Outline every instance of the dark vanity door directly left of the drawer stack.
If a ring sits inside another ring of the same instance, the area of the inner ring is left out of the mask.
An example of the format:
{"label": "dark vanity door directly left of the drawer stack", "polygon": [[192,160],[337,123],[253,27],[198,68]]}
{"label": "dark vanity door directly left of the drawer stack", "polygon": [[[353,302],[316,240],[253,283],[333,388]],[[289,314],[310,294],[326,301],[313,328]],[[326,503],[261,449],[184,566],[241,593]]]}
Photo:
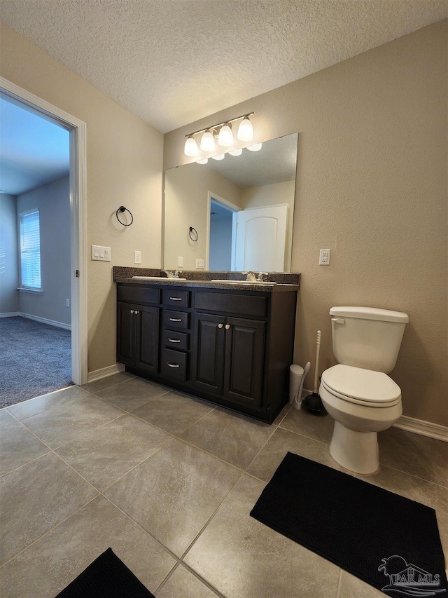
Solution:
{"label": "dark vanity door directly left of the drawer stack", "polygon": [[148,374],[158,372],[159,312],[158,307],[137,306],[135,367]]}

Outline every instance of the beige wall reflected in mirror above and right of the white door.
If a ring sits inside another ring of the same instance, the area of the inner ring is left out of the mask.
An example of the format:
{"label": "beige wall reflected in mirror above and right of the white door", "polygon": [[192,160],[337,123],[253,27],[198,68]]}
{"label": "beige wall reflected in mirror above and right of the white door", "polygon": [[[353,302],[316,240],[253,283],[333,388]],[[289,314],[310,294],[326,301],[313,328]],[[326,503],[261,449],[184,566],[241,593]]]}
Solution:
{"label": "beige wall reflected in mirror above and right of the white door", "polygon": [[295,181],[285,181],[272,185],[250,187],[241,190],[241,206],[247,208],[262,208],[267,205],[288,205],[288,222],[286,224],[285,241],[285,271],[291,270],[291,250],[293,245],[293,219],[294,219],[294,189]]}

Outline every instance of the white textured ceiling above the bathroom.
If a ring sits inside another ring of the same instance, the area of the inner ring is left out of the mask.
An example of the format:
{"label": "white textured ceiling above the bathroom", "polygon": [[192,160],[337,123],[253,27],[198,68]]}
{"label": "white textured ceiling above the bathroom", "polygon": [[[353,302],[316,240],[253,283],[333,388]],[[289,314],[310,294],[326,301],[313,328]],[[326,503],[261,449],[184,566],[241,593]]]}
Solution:
{"label": "white textured ceiling above the bathroom", "polygon": [[0,0],[0,20],[167,132],[447,16],[446,0]]}

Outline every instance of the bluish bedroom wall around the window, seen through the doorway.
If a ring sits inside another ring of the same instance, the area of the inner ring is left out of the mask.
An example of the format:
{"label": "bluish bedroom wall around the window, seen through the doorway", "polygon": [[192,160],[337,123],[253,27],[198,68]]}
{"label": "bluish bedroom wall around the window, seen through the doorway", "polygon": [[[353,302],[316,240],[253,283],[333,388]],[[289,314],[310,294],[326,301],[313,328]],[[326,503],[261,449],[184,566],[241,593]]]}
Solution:
{"label": "bluish bedroom wall around the window, seen through the doorway", "polygon": [[20,312],[69,325],[71,310],[66,307],[66,299],[70,299],[69,177],[18,196],[18,214],[34,208],[39,210],[43,293],[20,292]]}

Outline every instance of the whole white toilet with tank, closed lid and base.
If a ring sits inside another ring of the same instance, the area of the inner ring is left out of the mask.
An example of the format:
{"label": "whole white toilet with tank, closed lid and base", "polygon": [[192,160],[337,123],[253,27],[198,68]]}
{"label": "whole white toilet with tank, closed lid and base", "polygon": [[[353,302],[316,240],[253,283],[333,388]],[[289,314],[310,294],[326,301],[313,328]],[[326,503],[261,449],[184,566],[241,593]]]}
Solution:
{"label": "whole white toilet with tank, closed lid and base", "polygon": [[377,473],[377,433],[402,414],[400,387],[387,374],[409,318],[372,307],[332,307],[330,315],[337,365],[325,369],[319,388],[335,419],[330,455],[354,473]]}

